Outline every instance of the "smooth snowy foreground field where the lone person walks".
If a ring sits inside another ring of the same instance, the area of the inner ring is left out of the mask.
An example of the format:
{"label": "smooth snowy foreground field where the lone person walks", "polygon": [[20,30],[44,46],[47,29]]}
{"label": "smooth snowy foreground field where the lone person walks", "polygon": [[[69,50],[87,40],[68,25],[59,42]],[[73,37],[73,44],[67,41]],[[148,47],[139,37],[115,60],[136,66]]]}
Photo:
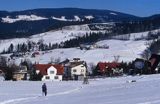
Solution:
{"label": "smooth snowy foreground field where the lone person walks", "polygon": [[[136,82],[131,82],[136,80]],[[160,75],[127,76],[82,81],[0,82],[0,104],[160,104]]]}

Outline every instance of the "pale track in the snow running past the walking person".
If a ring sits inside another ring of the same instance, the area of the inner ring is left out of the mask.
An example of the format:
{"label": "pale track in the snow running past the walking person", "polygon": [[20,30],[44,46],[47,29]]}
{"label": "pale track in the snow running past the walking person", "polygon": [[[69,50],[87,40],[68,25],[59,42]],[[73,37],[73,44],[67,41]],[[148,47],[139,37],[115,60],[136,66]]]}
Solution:
{"label": "pale track in the snow running past the walking person", "polygon": [[[54,93],[54,94],[49,94],[47,95],[46,97],[51,97],[51,96],[56,96],[56,95],[66,95],[66,94],[70,94],[70,93],[73,93],[73,92],[76,92],[78,90],[80,90],[82,87],[78,87],[78,88],[75,88],[73,90],[68,90],[68,91],[64,91],[64,92],[58,92],[58,93]],[[21,101],[28,101],[28,100],[32,100],[32,99],[37,99],[41,96],[34,96],[34,97],[24,97],[24,98],[17,98],[17,99],[10,99],[10,100],[6,100],[6,101],[3,101],[3,102],[0,102],[0,104],[13,104],[13,103],[18,103],[18,102],[21,102]]]}

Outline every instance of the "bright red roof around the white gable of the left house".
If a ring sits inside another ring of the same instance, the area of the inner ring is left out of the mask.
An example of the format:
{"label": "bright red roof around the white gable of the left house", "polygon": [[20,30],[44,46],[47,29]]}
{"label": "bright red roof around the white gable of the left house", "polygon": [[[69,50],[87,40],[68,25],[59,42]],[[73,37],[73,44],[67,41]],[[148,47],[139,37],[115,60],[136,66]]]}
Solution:
{"label": "bright red roof around the white gable of the left house", "polygon": [[53,64],[35,64],[34,67],[36,70],[39,70],[42,75],[47,75],[47,69],[53,66],[57,69],[57,75],[63,75],[64,68],[62,65],[53,65]]}

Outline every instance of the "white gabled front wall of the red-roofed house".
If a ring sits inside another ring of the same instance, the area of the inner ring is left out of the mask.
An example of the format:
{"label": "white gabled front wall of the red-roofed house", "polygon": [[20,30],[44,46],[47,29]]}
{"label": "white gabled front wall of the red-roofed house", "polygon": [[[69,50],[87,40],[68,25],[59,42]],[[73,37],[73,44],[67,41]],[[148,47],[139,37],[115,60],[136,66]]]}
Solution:
{"label": "white gabled front wall of the red-roofed house", "polygon": [[62,75],[57,75],[57,69],[51,66],[47,69],[47,75],[42,77],[42,81],[62,81]]}

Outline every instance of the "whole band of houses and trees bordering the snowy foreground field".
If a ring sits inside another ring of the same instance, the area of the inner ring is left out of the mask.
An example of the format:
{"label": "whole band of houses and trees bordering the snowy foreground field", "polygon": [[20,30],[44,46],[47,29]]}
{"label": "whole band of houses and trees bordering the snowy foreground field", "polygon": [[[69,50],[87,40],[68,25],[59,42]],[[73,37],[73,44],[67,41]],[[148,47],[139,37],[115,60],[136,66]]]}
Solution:
{"label": "whole band of houses and trees bordering the snowy foreground field", "polygon": [[[34,56],[33,56],[34,54]],[[33,53],[32,57],[40,55]],[[13,56],[21,57],[21,56]],[[97,77],[117,77],[123,75],[142,75],[160,73],[160,55],[152,54],[148,60],[136,58],[132,62],[119,62],[115,56],[112,62],[98,62],[97,65],[87,63],[80,58],[51,60],[48,64],[32,63],[29,60],[22,61],[19,65],[8,63],[9,59],[0,58],[1,80],[31,80],[31,81],[64,81],[84,80]]]}

